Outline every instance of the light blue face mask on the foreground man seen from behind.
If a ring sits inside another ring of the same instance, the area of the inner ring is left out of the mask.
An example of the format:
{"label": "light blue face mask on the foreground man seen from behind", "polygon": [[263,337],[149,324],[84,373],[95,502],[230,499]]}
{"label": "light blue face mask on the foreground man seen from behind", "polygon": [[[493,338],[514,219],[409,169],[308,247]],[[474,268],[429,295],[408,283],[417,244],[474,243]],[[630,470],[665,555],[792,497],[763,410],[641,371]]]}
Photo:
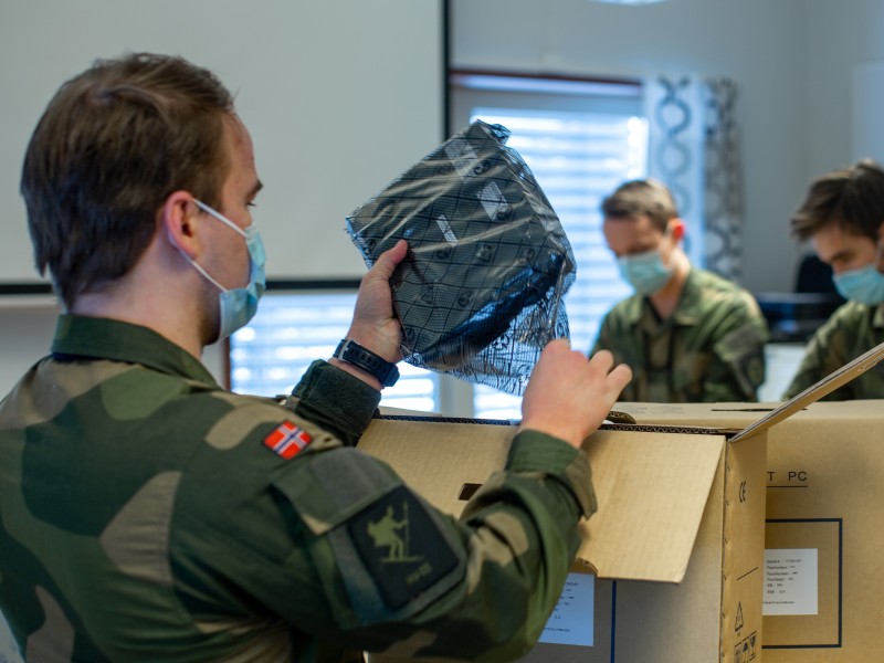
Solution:
{"label": "light blue face mask on the foreground man seen from behind", "polygon": [[[221,317],[221,325],[218,330],[218,340],[227,338],[236,329],[241,329],[249,324],[255,312],[257,311],[257,302],[261,295],[264,294],[266,288],[266,281],[264,277],[264,243],[261,241],[261,234],[257,232],[257,227],[252,224],[245,230],[233,223],[230,219],[213,210],[204,202],[193,200],[203,212],[210,214],[221,221],[222,223],[232,228],[236,233],[245,238],[245,246],[249,250],[249,283],[244,287],[225,288],[218,283],[209,273],[203,270],[196,261],[191,260],[189,255],[182,252],[182,255],[192,264],[197,271],[206,276],[219,291],[218,295],[219,312]],[[179,250],[180,251],[180,250]]]}

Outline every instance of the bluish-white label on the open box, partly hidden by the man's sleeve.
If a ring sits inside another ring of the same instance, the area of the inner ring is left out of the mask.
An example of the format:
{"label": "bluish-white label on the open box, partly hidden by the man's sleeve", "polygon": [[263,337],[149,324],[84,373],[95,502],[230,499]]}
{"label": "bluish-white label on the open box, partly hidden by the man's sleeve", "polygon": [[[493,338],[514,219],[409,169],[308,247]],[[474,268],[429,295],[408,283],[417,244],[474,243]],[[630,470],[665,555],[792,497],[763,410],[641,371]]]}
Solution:
{"label": "bluish-white label on the open box, partly hidden by the man's sleeve", "polygon": [[596,630],[596,576],[568,573],[558,603],[538,642],[592,646]]}

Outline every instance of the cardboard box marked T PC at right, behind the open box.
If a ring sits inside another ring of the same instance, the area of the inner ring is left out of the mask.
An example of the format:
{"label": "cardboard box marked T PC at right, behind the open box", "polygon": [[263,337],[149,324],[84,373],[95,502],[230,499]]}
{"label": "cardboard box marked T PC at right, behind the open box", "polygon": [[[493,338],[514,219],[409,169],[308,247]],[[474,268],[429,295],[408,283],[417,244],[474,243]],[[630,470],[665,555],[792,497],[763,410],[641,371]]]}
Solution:
{"label": "cardboard box marked T PC at right, behind the open box", "polygon": [[[618,407],[642,422],[725,427],[765,408]],[[809,404],[769,431],[767,465],[765,663],[884,659],[884,401]]]}

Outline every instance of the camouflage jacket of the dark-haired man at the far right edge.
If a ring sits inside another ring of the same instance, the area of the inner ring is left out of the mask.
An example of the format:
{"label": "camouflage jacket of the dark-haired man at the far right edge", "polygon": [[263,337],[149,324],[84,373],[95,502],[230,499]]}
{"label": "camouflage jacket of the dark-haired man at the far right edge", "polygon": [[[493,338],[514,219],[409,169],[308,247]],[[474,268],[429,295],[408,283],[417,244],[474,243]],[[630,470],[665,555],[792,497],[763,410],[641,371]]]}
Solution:
{"label": "camouflage jacket of the dark-haired man at the far right edge", "polygon": [[[852,359],[884,343],[884,304],[866,306],[856,302],[842,304],[827,323],[817,329],[783,399],[838,370]],[[854,378],[823,400],[884,398],[884,365],[878,364]]]}

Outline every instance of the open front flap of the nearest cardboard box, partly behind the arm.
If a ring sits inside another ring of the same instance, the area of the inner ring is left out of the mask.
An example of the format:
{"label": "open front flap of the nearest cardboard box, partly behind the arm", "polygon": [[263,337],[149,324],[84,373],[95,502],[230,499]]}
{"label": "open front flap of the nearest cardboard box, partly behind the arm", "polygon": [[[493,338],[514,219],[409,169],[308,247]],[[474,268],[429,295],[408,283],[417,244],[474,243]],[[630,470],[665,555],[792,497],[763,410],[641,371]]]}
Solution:
{"label": "open front flap of the nearest cardboard box, partly behind the arm", "polygon": [[[600,430],[583,444],[599,511],[581,524],[578,567],[602,578],[680,582],[725,444],[708,431]],[[373,420],[359,449],[392,465],[438,508],[459,516],[506,464],[515,425],[476,420]]]}

